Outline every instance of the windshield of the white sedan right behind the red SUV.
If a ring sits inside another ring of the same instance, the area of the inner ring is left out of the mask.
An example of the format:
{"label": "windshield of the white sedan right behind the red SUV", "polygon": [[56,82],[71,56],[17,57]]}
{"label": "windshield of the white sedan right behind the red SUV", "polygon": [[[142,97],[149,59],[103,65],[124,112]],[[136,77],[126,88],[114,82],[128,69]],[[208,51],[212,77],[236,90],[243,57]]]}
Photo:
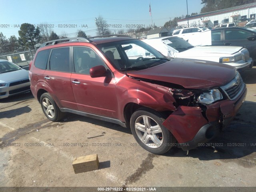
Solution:
{"label": "windshield of the white sedan right behind the red SUV", "polygon": [[179,52],[193,48],[189,42],[179,37],[168,37],[162,40],[166,45],[178,50]]}

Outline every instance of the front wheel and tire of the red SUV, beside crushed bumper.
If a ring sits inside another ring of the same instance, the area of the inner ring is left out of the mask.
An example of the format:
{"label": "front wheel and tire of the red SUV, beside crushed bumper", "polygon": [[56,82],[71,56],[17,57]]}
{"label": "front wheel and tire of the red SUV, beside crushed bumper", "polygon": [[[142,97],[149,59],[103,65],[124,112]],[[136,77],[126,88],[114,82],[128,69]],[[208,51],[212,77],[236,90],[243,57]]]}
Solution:
{"label": "front wheel and tire of the red SUV, beside crushed bumper", "polygon": [[154,154],[164,154],[175,145],[176,139],[162,123],[164,117],[148,108],[135,111],[130,126],[135,140],[145,150]]}

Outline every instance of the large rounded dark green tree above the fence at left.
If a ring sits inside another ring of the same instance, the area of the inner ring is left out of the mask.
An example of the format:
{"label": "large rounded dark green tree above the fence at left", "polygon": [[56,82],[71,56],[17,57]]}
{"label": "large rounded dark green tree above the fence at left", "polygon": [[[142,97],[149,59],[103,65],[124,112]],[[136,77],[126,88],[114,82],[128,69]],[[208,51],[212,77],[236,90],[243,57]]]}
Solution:
{"label": "large rounded dark green tree above the fence at left", "polygon": [[40,30],[35,28],[34,25],[29,23],[23,23],[20,26],[19,33],[19,42],[22,46],[34,47],[37,43],[40,42]]}

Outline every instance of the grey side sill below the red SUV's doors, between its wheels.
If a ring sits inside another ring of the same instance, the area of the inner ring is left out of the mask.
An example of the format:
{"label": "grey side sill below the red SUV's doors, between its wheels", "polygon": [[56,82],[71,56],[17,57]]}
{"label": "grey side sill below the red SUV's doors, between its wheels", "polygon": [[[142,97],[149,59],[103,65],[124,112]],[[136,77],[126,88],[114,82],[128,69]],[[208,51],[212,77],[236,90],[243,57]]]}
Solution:
{"label": "grey side sill below the red SUV's doors, between its wheels", "polygon": [[102,121],[107,121],[107,122],[115,123],[115,124],[118,124],[118,125],[126,128],[125,123],[121,122],[118,119],[112,119],[112,118],[108,118],[108,117],[103,117],[103,116],[94,115],[94,114],[90,114],[90,113],[86,113],[86,112],[81,112],[81,111],[76,111],[76,110],[67,109],[67,108],[60,108],[60,111],[61,112],[74,113],[74,114],[78,114],[78,115],[82,115],[82,116],[86,116],[86,117],[90,117],[90,118],[94,118],[94,119],[98,119],[98,120],[102,120]]}

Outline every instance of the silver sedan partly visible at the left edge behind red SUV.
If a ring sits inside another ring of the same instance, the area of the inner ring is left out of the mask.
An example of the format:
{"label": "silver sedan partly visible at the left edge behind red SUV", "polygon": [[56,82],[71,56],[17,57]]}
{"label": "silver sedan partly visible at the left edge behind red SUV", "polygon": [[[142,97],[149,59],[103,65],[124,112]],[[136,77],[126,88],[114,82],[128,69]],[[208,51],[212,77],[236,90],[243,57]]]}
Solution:
{"label": "silver sedan partly visible at the left edge behind red SUV", "polygon": [[28,71],[7,60],[0,60],[0,99],[28,91]]}

